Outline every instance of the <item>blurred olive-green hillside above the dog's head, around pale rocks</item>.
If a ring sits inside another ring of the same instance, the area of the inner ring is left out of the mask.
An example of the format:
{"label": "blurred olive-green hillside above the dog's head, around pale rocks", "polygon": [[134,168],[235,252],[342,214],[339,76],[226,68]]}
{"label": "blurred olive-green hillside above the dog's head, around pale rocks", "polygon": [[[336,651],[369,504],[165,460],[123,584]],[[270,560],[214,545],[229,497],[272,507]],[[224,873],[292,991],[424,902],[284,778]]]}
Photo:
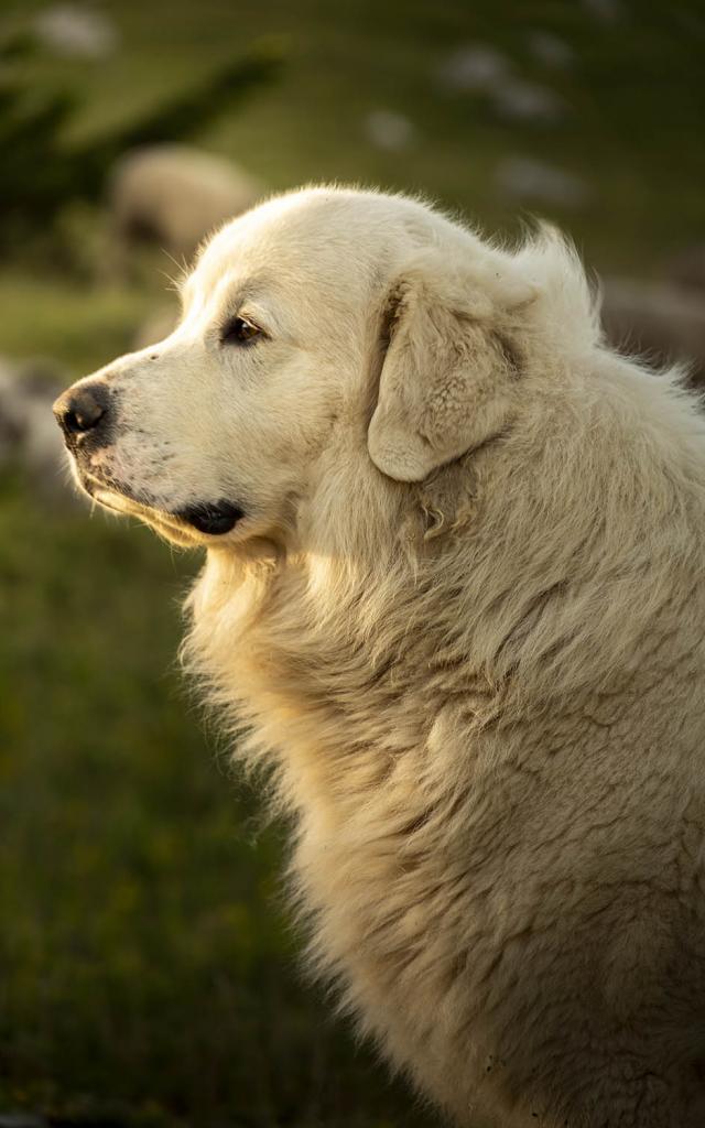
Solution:
{"label": "blurred olive-green hillside above the dog's head, around pale rocks", "polygon": [[[36,2],[36,0],[35,0]],[[83,65],[88,98],[72,135],[125,120],[258,37],[277,37],[288,65],[209,130],[205,142],[282,188],[310,179],[364,179],[418,188],[482,223],[515,230],[517,206],[494,185],[497,160],[521,153],[583,176],[592,203],[548,209],[600,267],[653,266],[660,254],[702,230],[705,112],[699,0],[620,0],[623,17],[594,19],[579,0],[200,0],[146,5],[106,0],[124,50]],[[26,11],[23,3],[21,10]],[[528,45],[536,30],[557,35],[573,63],[555,69]],[[505,52],[519,76],[562,95],[570,109],[552,127],[499,120],[472,92],[450,95],[434,80],[458,46],[483,42]],[[76,76],[74,62],[36,64],[37,78]],[[369,111],[407,114],[418,140],[400,152],[374,149]]]}

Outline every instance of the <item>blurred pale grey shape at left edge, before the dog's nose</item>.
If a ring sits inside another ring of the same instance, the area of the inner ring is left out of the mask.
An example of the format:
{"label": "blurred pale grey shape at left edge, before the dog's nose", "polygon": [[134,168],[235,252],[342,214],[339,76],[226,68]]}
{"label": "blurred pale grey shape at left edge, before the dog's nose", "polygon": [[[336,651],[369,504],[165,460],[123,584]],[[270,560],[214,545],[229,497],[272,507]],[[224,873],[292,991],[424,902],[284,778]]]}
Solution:
{"label": "blurred pale grey shape at left edge, before the dog's nose", "polygon": [[0,469],[20,466],[47,499],[65,495],[67,458],[52,404],[69,384],[51,361],[0,359]]}

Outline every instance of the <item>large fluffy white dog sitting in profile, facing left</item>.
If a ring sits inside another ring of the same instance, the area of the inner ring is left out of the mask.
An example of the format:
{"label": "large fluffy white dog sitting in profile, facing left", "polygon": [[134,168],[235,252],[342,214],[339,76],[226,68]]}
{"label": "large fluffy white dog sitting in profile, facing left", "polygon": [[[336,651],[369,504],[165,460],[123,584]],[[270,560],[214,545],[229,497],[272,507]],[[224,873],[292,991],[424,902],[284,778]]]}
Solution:
{"label": "large fluffy white dog sitting in profile, facing left", "polygon": [[188,661],[294,812],[311,954],[462,1125],[705,1125],[705,422],[582,270],[400,197],[223,228],[56,414],[203,545]]}

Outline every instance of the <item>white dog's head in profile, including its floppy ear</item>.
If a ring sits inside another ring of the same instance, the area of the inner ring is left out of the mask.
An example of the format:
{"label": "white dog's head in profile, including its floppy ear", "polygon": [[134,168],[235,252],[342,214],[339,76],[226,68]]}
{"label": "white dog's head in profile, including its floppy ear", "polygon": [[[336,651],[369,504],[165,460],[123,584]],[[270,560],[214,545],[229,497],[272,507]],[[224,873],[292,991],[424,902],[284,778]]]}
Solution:
{"label": "white dog's head in profile, including its floppy ear", "polygon": [[501,431],[532,283],[422,204],[316,188],[224,227],[182,297],[170,336],[54,409],[92,497],[235,546],[296,527],[331,444],[408,483]]}

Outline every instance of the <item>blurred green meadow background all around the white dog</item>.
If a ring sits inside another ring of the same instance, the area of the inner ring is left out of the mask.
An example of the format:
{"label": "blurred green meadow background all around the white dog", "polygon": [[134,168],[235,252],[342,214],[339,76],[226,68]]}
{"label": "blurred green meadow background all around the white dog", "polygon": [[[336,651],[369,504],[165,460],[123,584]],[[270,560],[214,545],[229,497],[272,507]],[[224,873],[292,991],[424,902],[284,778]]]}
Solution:
{"label": "blurred green meadow background all around the white dog", "polygon": [[705,238],[704,39],[702,0],[0,5],[0,1125],[431,1122],[301,981],[285,834],[175,667],[199,559],[58,468],[50,391],[147,342],[180,268],[120,229],[115,160],[538,212],[658,279]]}

